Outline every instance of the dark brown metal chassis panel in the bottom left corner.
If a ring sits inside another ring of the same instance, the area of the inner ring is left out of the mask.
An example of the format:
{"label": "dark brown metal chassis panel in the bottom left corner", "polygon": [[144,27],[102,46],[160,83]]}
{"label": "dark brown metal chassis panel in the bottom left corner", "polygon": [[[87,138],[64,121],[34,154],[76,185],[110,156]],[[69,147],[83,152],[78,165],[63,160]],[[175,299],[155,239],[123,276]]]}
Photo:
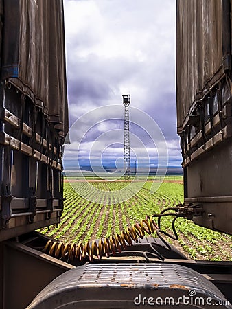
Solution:
{"label": "dark brown metal chassis panel in the bottom left corner", "polygon": [[24,309],[58,275],[74,268],[18,242],[0,242],[0,309]]}

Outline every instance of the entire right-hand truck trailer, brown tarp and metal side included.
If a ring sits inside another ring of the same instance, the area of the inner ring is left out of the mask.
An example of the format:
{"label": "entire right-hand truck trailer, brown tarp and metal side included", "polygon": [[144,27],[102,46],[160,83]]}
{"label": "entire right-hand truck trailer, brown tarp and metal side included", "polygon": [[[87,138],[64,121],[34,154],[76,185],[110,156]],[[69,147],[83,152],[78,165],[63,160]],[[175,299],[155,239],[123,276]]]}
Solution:
{"label": "entire right-hand truck trailer, brown tarp and metal side included", "polygon": [[231,1],[178,0],[176,84],[185,205],[232,233]]}

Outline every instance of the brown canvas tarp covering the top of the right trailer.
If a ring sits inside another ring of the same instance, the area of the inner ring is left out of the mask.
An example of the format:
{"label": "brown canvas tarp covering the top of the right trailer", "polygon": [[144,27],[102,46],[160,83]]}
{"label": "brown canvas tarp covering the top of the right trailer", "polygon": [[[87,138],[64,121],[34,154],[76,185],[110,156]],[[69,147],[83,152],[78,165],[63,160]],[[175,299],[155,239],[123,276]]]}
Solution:
{"label": "brown canvas tarp covering the top of the right trailer", "polygon": [[[178,131],[197,100],[224,76],[222,2],[176,1]],[[229,12],[230,13],[230,12]]]}

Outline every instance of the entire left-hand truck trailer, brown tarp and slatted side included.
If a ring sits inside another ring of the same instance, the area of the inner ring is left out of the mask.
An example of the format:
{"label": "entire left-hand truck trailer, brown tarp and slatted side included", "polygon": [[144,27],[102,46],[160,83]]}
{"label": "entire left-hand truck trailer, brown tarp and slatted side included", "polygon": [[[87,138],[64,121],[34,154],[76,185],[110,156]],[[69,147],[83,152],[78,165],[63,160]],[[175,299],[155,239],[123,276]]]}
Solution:
{"label": "entire left-hand truck trailer, brown tarp and slatted side included", "polygon": [[68,130],[62,0],[0,0],[0,241],[60,222]]}

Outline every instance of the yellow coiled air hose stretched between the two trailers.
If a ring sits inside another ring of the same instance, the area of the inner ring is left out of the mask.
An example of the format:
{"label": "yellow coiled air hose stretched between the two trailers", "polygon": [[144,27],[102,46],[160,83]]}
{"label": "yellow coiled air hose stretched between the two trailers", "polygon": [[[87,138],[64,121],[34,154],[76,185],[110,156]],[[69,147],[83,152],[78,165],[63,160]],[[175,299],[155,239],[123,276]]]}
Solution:
{"label": "yellow coiled air hose stretched between the two trailers", "polygon": [[[55,258],[67,258],[71,261],[76,259],[80,262],[85,258],[89,258],[89,261],[92,262],[94,257],[100,260],[103,255],[106,255],[106,257],[109,258],[110,255],[115,255],[116,252],[121,253],[121,251],[126,249],[126,246],[131,246],[133,241],[138,242],[139,238],[142,239],[146,233],[150,235],[154,232],[156,232],[163,244],[165,244],[168,249],[171,249],[170,245],[163,239],[161,234],[174,240],[178,240],[178,234],[176,233],[174,224],[178,217],[183,216],[183,212],[180,211],[181,208],[183,208],[183,205],[178,204],[176,207],[168,207],[164,209],[160,214],[146,216],[146,219],[141,220],[139,223],[135,223],[132,227],[126,227],[125,231],[115,233],[108,238],[101,238],[90,242],[79,242],[78,244],[74,242],[64,243],[49,240],[45,245],[43,252],[52,255]],[[171,210],[175,212],[167,213],[167,211]],[[173,235],[161,230],[161,218],[163,216],[174,216],[174,219],[172,220]],[[158,218],[158,224],[154,222],[154,218]],[[160,254],[157,252],[156,257],[161,258]]]}

